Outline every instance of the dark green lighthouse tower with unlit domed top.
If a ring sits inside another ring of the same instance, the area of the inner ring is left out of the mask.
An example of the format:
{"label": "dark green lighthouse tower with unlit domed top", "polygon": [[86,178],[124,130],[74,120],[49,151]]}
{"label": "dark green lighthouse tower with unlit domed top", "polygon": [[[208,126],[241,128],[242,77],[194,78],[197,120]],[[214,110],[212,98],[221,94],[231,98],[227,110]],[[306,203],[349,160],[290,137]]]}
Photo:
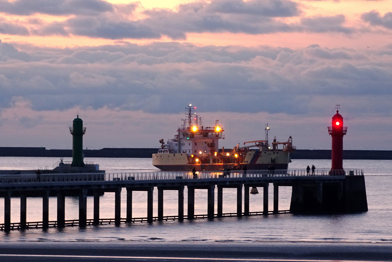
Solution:
{"label": "dark green lighthouse tower with unlit domed top", "polygon": [[86,128],[79,115],[73,120],[73,127],[69,127],[72,134],[72,164],[71,166],[84,166],[83,163],[83,135]]}

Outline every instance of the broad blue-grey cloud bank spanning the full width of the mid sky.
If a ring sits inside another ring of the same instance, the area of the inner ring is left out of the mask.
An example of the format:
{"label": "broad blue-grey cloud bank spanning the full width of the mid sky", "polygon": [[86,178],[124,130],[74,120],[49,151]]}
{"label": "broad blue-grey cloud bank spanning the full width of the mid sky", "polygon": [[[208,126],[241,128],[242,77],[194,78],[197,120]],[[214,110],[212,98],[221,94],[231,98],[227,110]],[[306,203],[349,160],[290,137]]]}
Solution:
{"label": "broad blue-grey cloud bank spanning the full width of the mid sky", "polygon": [[381,50],[176,42],[28,48],[23,53],[0,45],[2,108],[20,97],[38,111],[179,113],[192,102],[208,111],[304,115],[350,101],[358,112],[370,106],[377,114],[391,114],[392,54]]}

